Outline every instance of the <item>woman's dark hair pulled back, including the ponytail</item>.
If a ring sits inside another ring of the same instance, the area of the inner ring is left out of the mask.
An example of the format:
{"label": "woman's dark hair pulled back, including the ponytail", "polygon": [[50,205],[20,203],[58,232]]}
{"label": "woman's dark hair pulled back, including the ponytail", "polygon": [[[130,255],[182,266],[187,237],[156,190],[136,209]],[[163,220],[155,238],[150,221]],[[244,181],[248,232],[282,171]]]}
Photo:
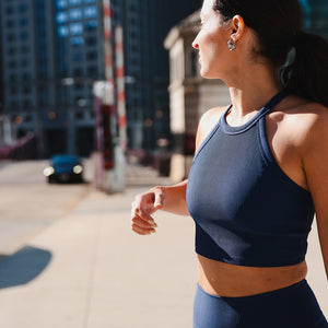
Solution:
{"label": "woman's dark hair pulled back, including the ponytail", "polygon": [[[239,14],[256,33],[257,55],[281,68],[281,83],[291,93],[328,106],[328,42],[302,32],[297,0],[214,0],[224,21]],[[286,62],[294,47],[294,58]]]}

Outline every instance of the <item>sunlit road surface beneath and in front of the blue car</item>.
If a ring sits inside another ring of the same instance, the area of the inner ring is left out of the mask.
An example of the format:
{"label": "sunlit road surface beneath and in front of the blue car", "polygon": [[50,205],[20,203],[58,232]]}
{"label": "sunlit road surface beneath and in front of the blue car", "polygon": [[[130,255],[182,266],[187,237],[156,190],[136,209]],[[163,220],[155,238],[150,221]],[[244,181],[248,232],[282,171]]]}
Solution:
{"label": "sunlit road surface beneath and in front of the blue car", "polygon": [[85,184],[47,184],[48,161],[0,163],[0,255],[11,254],[54,221],[67,215],[90,191]]}

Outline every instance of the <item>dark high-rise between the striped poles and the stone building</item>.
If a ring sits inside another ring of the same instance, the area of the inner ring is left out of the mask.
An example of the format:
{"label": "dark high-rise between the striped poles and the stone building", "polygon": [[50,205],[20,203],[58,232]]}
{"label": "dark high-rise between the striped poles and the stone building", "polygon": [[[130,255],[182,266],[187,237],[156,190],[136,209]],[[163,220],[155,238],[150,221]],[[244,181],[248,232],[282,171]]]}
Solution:
{"label": "dark high-rise between the striped poles and the stone building", "polygon": [[113,24],[124,26],[129,147],[157,149],[169,139],[169,28],[201,7],[201,0],[112,0]]}

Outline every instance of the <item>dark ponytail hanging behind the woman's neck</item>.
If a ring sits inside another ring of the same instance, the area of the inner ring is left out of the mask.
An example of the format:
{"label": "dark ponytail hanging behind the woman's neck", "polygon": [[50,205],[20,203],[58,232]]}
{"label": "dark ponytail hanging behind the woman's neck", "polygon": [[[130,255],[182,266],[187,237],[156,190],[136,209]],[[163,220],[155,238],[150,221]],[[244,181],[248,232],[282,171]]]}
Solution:
{"label": "dark ponytail hanging behind the woman's neck", "polygon": [[281,71],[281,82],[292,94],[328,107],[328,42],[315,34],[297,32],[294,58]]}

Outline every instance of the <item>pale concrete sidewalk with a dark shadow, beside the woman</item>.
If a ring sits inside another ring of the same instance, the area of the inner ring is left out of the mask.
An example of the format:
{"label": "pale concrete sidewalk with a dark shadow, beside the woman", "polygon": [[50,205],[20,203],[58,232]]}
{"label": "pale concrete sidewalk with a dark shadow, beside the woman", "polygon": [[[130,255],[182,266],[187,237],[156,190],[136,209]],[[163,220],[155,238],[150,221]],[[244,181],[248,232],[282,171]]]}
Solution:
{"label": "pale concrete sidewalk with a dark shadow, beside the woman", "polygon": [[[125,194],[92,190],[75,210],[0,261],[4,328],[188,328],[196,288],[194,223],[159,212],[157,233],[130,230],[136,194],[169,184],[130,167]],[[311,237],[308,281],[328,316],[328,289]]]}

